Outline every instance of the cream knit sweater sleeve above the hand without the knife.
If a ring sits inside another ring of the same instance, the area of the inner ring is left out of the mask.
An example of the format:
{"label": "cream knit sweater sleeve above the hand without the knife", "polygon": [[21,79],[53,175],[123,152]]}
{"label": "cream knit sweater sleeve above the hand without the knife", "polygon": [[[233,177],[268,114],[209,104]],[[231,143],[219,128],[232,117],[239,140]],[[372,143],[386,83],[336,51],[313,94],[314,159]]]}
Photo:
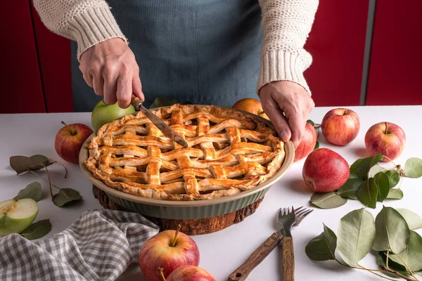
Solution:
{"label": "cream knit sweater sleeve above the hand without the knife", "polygon": [[318,0],[260,0],[264,41],[257,93],[271,81],[293,81],[310,94],[303,72],[312,56],[305,51]]}

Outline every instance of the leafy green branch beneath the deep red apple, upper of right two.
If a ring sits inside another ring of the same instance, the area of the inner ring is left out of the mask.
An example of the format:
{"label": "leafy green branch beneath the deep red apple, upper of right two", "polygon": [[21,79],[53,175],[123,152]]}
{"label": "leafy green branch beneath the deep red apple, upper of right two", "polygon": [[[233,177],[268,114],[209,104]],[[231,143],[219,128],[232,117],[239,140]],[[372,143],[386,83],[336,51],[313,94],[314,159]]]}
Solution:
{"label": "leafy green branch beneath the deep red apple, upper of right two", "polygon": [[394,165],[392,168],[378,165],[383,157],[377,154],[357,159],[350,166],[350,176],[343,186],[335,192],[313,195],[311,204],[321,209],[332,209],[342,206],[347,200],[359,200],[366,207],[375,209],[377,202],[402,199],[402,178],[421,177],[422,159],[409,158],[402,169],[401,165],[395,164],[391,159]]}

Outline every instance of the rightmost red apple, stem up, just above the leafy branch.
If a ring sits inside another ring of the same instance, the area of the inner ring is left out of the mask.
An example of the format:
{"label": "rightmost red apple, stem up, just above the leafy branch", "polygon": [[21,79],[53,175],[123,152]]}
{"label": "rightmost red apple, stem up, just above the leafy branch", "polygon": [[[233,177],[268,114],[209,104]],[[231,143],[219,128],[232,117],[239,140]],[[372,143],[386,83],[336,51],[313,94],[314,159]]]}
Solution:
{"label": "rightmost red apple, stem up, just above the leafy branch", "polygon": [[390,122],[381,122],[372,125],[365,135],[365,146],[369,154],[383,155],[383,162],[389,162],[402,154],[406,134],[403,129]]}

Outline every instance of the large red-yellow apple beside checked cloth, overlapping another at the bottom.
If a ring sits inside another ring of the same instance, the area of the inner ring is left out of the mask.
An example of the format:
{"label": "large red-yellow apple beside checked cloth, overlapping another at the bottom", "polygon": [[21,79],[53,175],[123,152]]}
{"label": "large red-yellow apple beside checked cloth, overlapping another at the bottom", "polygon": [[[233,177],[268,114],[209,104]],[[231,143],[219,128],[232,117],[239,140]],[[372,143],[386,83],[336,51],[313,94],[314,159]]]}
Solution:
{"label": "large red-yellow apple beside checked cloth, overlapping another at the bottom", "polygon": [[139,251],[139,266],[148,281],[162,281],[158,268],[167,277],[181,266],[198,266],[196,242],[179,230],[165,230],[151,237]]}

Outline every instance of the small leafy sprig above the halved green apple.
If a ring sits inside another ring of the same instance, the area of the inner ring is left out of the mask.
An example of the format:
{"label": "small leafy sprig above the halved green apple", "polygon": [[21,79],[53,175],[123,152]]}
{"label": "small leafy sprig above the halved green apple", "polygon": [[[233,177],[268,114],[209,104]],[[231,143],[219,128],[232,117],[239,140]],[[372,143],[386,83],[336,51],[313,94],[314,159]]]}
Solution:
{"label": "small leafy sprig above the halved green apple", "polygon": [[[80,195],[79,192],[77,192],[77,190],[74,190],[72,188],[59,188],[57,185],[54,185],[53,183],[51,183],[50,173],[49,173],[49,169],[47,169],[47,166],[51,166],[52,164],[55,164],[55,163],[58,163],[58,162],[53,161],[45,157],[44,155],[32,155],[31,157],[18,155],[18,156],[12,156],[10,158],[11,168],[16,171],[16,174],[19,175],[25,172],[30,172],[34,174],[35,176],[38,176],[39,178],[41,178],[41,180],[45,181],[46,183],[49,183],[51,200],[53,201],[54,204],[56,204],[56,206],[63,207],[65,204],[68,204],[69,202],[82,200],[82,195]],[[65,178],[67,178],[68,170],[63,164],[60,164],[60,165],[62,165],[63,168],[65,169]],[[42,178],[41,176],[39,176],[39,174],[35,173],[35,171],[39,171],[41,169],[46,170],[48,180],[46,180],[45,178]],[[40,188],[40,186],[41,185],[39,185],[39,183],[38,185],[28,185],[25,188],[26,190],[25,192],[29,192],[29,193],[35,192],[38,194],[38,189]],[[58,192],[56,194],[53,194],[53,189],[51,188],[51,186],[54,186],[55,188],[58,189]],[[41,190],[39,190],[39,197],[40,197],[39,199],[41,199]]]}

